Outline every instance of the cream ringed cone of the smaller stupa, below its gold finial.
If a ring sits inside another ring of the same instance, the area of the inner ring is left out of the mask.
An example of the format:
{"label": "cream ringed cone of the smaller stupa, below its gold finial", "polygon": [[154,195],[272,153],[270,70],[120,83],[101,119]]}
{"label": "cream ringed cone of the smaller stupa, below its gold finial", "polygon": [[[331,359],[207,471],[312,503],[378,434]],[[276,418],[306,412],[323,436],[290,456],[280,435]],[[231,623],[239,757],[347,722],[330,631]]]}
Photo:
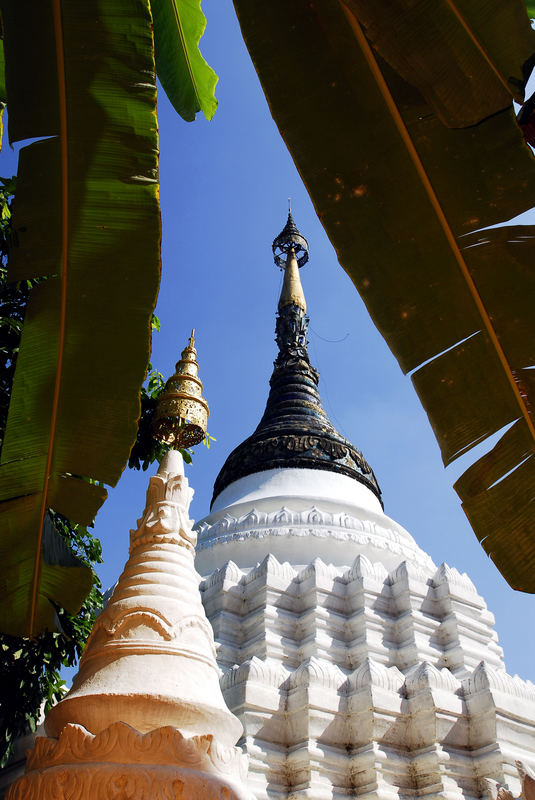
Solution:
{"label": "cream ringed cone of the smaller stupa, below its gold finial", "polygon": [[46,718],[58,736],[68,722],[99,733],[122,721],[146,732],[173,725],[233,745],[241,723],[219,688],[212,629],[201,603],[188,519],[193,490],[171,450],[150,479],[130,557],[98,617],[68,695]]}

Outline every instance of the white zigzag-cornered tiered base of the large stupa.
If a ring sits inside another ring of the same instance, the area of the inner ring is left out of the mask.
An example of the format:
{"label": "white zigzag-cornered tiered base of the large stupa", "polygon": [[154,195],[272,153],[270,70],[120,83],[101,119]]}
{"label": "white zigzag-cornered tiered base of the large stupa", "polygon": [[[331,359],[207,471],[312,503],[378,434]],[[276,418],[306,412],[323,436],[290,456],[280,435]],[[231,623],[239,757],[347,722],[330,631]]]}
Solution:
{"label": "white zigzag-cornered tiered base of the large stupa", "polygon": [[270,555],[201,589],[258,798],[475,800],[535,763],[535,686],[457,570]]}

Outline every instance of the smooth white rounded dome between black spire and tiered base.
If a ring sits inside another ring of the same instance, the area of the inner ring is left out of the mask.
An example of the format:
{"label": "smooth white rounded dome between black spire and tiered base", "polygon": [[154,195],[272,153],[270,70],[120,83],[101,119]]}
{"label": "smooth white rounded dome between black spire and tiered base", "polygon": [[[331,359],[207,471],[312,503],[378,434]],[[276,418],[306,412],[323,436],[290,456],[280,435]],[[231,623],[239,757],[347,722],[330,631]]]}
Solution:
{"label": "smooth white rounded dome between black spire and tiered base", "polygon": [[201,575],[229,560],[254,567],[267,553],[294,565],[314,557],[347,565],[361,554],[389,570],[406,560],[436,569],[370,489],[325,470],[271,469],[240,478],[196,528]]}

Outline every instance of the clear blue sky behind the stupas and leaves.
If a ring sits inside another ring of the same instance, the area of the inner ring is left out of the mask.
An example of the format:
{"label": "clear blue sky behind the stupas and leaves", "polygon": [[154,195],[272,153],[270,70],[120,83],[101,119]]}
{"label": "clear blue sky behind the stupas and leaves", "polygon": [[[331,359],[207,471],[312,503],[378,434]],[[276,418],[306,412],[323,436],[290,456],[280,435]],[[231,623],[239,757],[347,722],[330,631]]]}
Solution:
{"label": "clear blue sky behind the stupas and leaves", "polygon": [[[511,673],[535,679],[533,637],[525,621],[535,598],[509,588],[478,544],[451,486],[472,456],[444,470],[410,379],[404,377],[337,263],[300,177],[271,119],[230,0],[204,0],[202,51],[220,76],[212,122],[183,122],[160,92],[163,274],[152,361],[169,376],[189,332],[197,335],[200,377],[217,442],[196,448],[188,477],[192,516],[209,511],[216,475],[256,427],[267,398],[281,273],[271,242],[284,226],[287,198],[307,237],[301,271],[310,316],[309,351],[320,371],[324,406],[340,433],[360,448],[383,491],[386,513],[406,527],[437,564],[466,571],[491,611]],[[306,108],[303,109],[306,113]],[[4,148],[0,174],[13,155]],[[487,445],[488,446],[488,445]],[[144,506],[148,475],[125,471],[98,514],[105,585],[127,557],[128,532]],[[311,554],[311,557],[313,554]]]}

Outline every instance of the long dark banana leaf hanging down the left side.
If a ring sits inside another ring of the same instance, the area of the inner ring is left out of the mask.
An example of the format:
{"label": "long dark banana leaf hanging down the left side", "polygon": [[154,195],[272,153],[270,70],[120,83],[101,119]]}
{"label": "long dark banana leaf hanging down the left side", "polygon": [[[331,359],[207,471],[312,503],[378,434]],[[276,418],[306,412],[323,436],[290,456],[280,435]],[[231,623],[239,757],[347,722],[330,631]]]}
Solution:
{"label": "long dark banana leaf hanging down the left side", "polygon": [[9,277],[47,280],[0,465],[0,629],[32,636],[90,586],[48,509],[91,523],[136,437],[160,271],[156,87],[148,0],[5,0],[2,16],[10,140],[50,137],[19,159]]}

